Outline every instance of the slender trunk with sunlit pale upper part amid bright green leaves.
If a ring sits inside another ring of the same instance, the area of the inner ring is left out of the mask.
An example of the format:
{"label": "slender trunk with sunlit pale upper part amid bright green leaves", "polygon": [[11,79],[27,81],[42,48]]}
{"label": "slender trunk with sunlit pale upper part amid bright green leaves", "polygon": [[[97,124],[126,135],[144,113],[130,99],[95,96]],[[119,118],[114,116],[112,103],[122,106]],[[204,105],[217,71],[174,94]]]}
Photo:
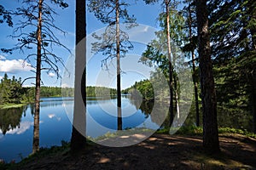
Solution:
{"label": "slender trunk with sunlit pale upper part amid bright green leaves", "polygon": [[172,82],[172,51],[171,51],[171,37],[170,37],[170,13],[169,13],[169,3],[170,0],[165,0],[166,3],[166,36],[167,36],[167,48],[168,48],[168,60],[169,60],[169,90],[170,90],[170,105],[169,105],[169,113],[170,113],[170,127],[173,122],[173,82]]}

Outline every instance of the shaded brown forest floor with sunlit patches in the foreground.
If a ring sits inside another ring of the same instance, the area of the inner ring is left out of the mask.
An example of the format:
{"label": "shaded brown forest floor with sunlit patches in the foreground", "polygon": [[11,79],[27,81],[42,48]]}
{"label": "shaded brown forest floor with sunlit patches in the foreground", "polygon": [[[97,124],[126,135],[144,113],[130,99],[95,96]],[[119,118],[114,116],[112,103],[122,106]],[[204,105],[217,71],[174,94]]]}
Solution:
{"label": "shaded brown forest floor with sunlit patches in the foreground", "polygon": [[221,153],[202,148],[202,137],[154,134],[128,147],[90,144],[72,155],[69,147],[25,159],[12,169],[256,169],[256,139],[221,134]]}

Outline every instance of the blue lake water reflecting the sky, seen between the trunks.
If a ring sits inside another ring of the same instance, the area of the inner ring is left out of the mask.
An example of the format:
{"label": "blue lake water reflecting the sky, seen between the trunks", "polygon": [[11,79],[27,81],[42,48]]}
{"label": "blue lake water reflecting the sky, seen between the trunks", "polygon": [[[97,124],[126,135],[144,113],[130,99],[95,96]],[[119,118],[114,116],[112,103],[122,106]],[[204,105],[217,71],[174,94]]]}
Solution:
{"label": "blue lake water reflecting the sky, seen between the trunks", "polygon": [[[117,129],[116,99],[88,98],[87,135],[93,138]],[[122,98],[123,128],[160,127],[147,111],[138,109],[136,101]],[[61,145],[70,141],[72,133],[73,100],[71,98],[44,98],[40,103],[40,147]],[[94,120],[94,121],[92,121]],[[106,128],[95,128],[95,123]],[[32,153],[33,105],[0,110],[0,159],[20,161]]]}

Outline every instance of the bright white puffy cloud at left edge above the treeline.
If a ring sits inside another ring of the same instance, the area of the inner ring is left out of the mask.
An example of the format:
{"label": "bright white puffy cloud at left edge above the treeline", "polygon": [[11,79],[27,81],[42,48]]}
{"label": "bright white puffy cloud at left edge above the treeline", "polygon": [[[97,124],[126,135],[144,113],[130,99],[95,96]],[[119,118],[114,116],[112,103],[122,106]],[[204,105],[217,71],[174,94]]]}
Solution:
{"label": "bright white puffy cloud at left edge above the treeline", "polygon": [[17,73],[31,70],[33,70],[32,66],[23,59],[0,60],[0,72]]}

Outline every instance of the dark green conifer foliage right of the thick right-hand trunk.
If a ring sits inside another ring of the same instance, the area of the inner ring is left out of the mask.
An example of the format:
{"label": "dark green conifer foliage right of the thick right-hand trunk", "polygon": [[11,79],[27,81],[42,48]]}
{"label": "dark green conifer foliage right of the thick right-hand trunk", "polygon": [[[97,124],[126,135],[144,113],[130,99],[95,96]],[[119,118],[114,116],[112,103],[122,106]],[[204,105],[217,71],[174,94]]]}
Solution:
{"label": "dark green conifer foliage right of the thick right-hand trunk", "polygon": [[[209,3],[212,58],[218,105],[255,116],[256,3]],[[254,100],[253,100],[254,99]],[[254,118],[254,132],[256,132]]]}

